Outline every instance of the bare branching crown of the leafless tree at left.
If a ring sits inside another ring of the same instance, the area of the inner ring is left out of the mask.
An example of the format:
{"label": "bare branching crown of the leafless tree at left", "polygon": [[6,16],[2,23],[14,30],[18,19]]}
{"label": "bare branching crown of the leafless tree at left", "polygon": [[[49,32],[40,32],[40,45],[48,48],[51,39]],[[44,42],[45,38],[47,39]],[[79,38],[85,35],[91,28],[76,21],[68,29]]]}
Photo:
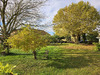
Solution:
{"label": "bare branching crown of the leafless tree at left", "polygon": [[[1,34],[5,41],[25,23],[34,24],[41,17],[39,8],[46,0],[0,0]],[[7,46],[5,46],[7,47]],[[8,50],[9,53],[9,50]]]}

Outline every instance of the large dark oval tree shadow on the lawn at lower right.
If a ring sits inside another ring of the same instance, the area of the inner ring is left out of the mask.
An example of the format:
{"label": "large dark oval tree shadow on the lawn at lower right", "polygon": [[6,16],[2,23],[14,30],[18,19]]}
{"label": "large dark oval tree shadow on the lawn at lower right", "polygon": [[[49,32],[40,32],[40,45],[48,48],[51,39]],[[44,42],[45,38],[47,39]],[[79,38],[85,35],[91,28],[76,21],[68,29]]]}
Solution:
{"label": "large dark oval tree shadow on the lawn at lower right", "polygon": [[70,56],[63,59],[54,59],[50,64],[47,65],[47,67],[55,67],[57,69],[82,68],[89,66],[89,63],[92,62],[92,58],[86,58],[84,56]]}

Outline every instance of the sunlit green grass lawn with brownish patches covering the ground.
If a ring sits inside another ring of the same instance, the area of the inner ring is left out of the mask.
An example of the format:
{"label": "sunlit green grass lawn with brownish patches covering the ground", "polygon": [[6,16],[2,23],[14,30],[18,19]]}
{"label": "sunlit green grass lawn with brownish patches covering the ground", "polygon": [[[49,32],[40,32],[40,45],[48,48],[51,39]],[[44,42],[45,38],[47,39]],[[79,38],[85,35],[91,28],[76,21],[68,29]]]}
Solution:
{"label": "sunlit green grass lawn with brownish patches covering the ground", "polygon": [[[45,59],[49,50],[49,59]],[[0,62],[16,65],[18,75],[100,75],[100,52],[94,45],[57,44],[37,51],[37,60],[31,52],[12,49]]]}

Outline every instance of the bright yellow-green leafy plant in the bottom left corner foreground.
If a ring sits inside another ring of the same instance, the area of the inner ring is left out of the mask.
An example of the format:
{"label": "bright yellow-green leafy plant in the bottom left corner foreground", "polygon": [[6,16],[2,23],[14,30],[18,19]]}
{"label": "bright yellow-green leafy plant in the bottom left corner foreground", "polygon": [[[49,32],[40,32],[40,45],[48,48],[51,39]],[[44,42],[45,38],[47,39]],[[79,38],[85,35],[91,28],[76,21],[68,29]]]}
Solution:
{"label": "bright yellow-green leafy plant in the bottom left corner foreground", "polygon": [[16,66],[11,66],[6,64],[5,66],[0,62],[0,75],[17,75],[17,73],[13,73],[13,69]]}

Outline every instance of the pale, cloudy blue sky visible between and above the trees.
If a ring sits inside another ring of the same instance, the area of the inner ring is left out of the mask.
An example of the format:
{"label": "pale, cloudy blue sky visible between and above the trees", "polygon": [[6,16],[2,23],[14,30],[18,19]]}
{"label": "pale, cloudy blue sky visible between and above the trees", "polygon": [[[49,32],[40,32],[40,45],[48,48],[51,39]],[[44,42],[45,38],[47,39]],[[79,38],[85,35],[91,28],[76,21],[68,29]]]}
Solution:
{"label": "pale, cloudy blue sky visible between and above the trees", "polygon": [[[52,23],[54,15],[57,14],[57,11],[60,8],[64,8],[65,6],[70,5],[71,3],[78,3],[82,0],[48,0],[46,5],[42,8],[43,13],[45,14],[46,18],[43,23]],[[100,0],[83,0],[85,2],[89,1],[89,3],[94,6],[98,11],[100,10]],[[47,27],[44,29],[51,35],[53,35],[54,31],[52,26]]]}

